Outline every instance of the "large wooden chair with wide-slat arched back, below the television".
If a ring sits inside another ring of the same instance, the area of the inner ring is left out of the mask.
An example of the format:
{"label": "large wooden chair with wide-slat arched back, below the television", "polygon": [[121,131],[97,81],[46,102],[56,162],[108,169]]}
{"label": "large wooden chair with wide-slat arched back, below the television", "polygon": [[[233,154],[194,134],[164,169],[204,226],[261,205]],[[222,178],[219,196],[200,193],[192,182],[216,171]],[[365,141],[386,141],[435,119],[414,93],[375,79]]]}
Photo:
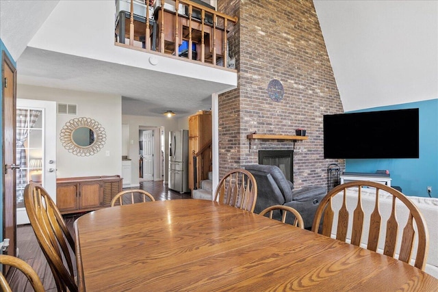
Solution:
{"label": "large wooden chair with wide-slat arched back, below the television", "polygon": [[[366,243],[361,241],[365,217],[362,207],[362,193],[365,192],[365,190],[371,192],[371,196],[375,196],[374,209],[369,215],[370,225],[368,228],[368,242]],[[348,202],[352,200],[351,194],[357,194],[353,196],[353,198],[357,200],[357,202],[354,201],[352,203],[355,205],[354,210],[348,210],[347,208],[349,204]],[[381,196],[388,196],[388,194],[391,198],[391,210],[386,221],[386,230],[381,230],[383,220],[381,215],[382,208],[380,207],[379,202],[383,204]],[[414,241],[417,239],[414,266],[424,270],[429,247],[428,229],[423,215],[417,209],[415,204],[407,198],[407,196],[404,196],[404,194],[392,187],[371,181],[352,181],[350,183],[338,185],[331,189],[331,191],[329,191],[320,202],[313,220],[313,232],[321,233],[327,237],[333,237],[333,219],[335,217],[335,212],[333,211],[333,198],[335,196],[341,196],[339,199],[342,199],[342,206],[337,213],[336,239],[346,242],[350,241],[351,244],[357,246],[363,246],[366,244],[368,250],[375,252],[378,250],[379,237],[382,233],[382,235],[385,236],[384,245],[381,248],[383,254],[395,257],[396,251],[398,251],[398,259],[408,264],[411,263],[411,255],[415,247]],[[339,204],[341,204],[341,202],[339,202]],[[407,216],[407,223],[402,230],[400,247],[398,248],[397,239],[399,222],[396,217],[396,211],[405,211],[403,209],[406,208],[403,208],[402,205],[407,208],[409,215]],[[349,220],[351,211],[352,220]],[[351,233],[348,232],[348,230],[351,230]]]}

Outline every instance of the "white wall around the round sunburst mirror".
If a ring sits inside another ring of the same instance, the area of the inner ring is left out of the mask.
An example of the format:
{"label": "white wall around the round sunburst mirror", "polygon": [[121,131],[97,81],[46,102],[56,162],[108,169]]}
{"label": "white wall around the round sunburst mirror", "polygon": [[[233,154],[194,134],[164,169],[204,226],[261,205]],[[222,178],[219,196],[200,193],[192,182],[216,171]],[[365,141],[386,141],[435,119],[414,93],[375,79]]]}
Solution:
{"label": "white wall around the round sunburst mirror", "polygon": [[[31,85],[17,85],[17,98],[56,101],[77,105],[77,115],[57,115],[57,178],[122,174],[122,99],[111,94],[60,90]],[[68,152],[60,142],[60,131],[73,118],[92,118],[105,129],[107,140],[99,152],[79,157]],[[106,152],[110,153],[107,157]]]}

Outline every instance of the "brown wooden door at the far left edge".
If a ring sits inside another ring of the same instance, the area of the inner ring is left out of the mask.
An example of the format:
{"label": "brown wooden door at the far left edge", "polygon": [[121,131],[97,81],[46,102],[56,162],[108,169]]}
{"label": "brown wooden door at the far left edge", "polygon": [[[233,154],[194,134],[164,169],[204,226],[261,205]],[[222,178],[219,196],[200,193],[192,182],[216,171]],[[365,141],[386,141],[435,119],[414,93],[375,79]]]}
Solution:
{"label": "brown wooden door at the far left edge", "polygon": [[[4,143],[4,141],[5,141],[5,86],[4,86],[5,73],[4,73],[4,71],[5,71],[5,66],[8,66],[10,68],[10,70],[12,71],[13,76],[14,76],[14,80],[12,81],[12,85],[14,86],[14,88],[12,89],[13,90],[12,103],[13,103],[13,107],[14,107],[14,110],[12,112],[12,120],[15,124],[15,121],[16,121],[16,111],[15,111],[15,109],[16,109],[16,67],[12,63],[10,57],[8,57],[8,55],[5,53],[5,51],[2,51],[1,64],[2,64],[2,66],[1,66],[1,94],[2,94],[1,95],[1,103],[2,103],[2,108],[1,108],[1,122],[2,122],[2,124],[1,124],[1,127],[2,127],[2,138],[3,138],[3,143]],[[13,140],[15,141],[15,127],[13,127],[12,131],[14,133]],[[12,148],[13,148],[13,152],[14,152],[13,157],[16,157],[15,145]],[[2,152],[1,153],[2,162],[3,162],[1,165],[1,167],[3,168],[2,178],[1,178],[2,179],[2,194],[3,194],[3,214],[2,214],[2,216],[3,216],[3,218],[2,218],[3,219],[3,224],[2,224],[3,225],[2,226],[3,234],[2,235],[4,236],[6,233],[5,214],[8,212],[8,210],[6,210],[6,205],[7,205],[6,202],[7,202],[8,198],[6,198],[6,186],[5,186],[5,160],[4,160],[5,159],[5,147],[4,146],[2,147],[1,152]],[[15,161],[15,159],[14,159],[14,161]],[[12,222],[13,222],[13,226],[14,226],[14,239],[12,241],[10,241],[10,247],[8,248],[8,254],[10,254],[12,256],[16,256],[16,215],[15,215],[15,212],[16,212],[16,196],[15,196],[16,195],[16,193],[15,193],[16,172],[15,172],[15,170],[10,170],[10,171],[12,171],[14,173],[13,188],[12,188],[12,189],[14,189],[14,194],[12,194],[12,200],[13,200],[14,207],[12,210],[9,210],[9,212],[12,211],[12,213],[13,213]],[[3,267],[3,269],[4,269],[4,267]]]}

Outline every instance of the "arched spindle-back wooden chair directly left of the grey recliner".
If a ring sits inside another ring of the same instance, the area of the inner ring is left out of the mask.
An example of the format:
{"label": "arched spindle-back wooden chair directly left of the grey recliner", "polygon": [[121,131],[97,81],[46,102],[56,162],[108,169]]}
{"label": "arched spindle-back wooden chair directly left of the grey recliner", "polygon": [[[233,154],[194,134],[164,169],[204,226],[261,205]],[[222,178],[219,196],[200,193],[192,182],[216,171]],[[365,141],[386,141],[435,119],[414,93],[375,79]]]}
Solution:
{"label": "arched spindle-back wooden chair directly left of the grey recliner", "polygon": [[214,200],[253,212],[257,200],[257,183],[253,174],[244,169],[231,170],[216,187]]}

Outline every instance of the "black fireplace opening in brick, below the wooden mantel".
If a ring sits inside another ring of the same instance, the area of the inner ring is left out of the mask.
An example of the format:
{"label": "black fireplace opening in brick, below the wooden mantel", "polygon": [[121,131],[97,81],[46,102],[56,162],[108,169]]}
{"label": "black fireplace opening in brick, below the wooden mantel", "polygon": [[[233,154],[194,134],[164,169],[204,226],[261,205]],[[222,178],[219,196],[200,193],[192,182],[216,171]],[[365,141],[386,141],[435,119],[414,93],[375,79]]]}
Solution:
{"label": "black fireplace opening in brick, below the wooden mantel", "polygon": [[294,182],[293,150],[259,150],[259,164],[278,166],[286,179]]}

